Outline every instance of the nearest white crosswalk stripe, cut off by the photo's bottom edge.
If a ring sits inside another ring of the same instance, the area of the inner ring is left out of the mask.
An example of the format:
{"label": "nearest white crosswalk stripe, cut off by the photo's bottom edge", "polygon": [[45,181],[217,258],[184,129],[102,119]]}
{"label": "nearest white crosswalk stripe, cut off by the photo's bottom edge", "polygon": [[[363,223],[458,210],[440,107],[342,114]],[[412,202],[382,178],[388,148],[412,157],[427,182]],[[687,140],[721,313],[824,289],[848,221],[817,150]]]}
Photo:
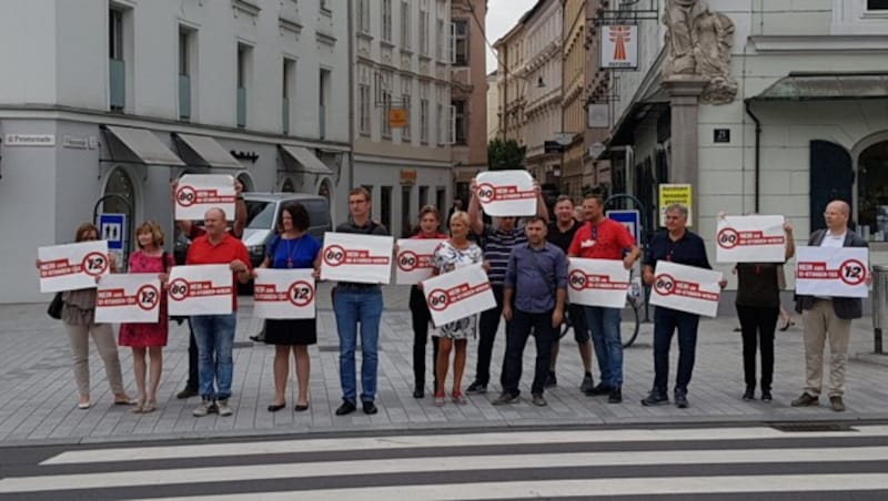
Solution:
{"label": "nearest white crosswalk stripe, cut off by the photo's bottom edge", "polygon": [[[349,500],[457,500],[554,497],[613,497],[653,494],[726,494],[749,492],[811,492],[885,490],[888,474],[788,474],[726,477],[665,477],[588,480],[542,480],[460,483],[458,485],[393,485],[362,489],[324,489],[296,492],[262,492],[263,500],[341,501]],[[205,497],[200,497],[205,498]],[[256,493],[213,497],[225,501],[252,501]],[[164,498],[190,500],[198,498]]]}

